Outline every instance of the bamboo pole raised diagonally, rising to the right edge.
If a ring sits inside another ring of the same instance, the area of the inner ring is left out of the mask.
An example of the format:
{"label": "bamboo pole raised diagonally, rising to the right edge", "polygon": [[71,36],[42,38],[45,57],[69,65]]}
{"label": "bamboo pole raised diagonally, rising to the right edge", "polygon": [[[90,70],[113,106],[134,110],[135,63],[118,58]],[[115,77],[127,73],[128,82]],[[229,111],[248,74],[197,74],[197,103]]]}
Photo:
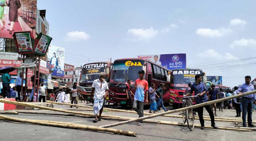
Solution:
{"label": "bamboo pole raised diagonally, rising to the right edge", "polygon": [[139,120],[143,120],[143,119],[147,119],[147,118],[154,118],[154,117],[157,117],[157,116],[172,114],[172,113],[175,113],[175,112],[181,112],[181,111],[185,111],[185,110],[189,110],[189,109],[195,109],[195,108],[198,108],[198,107],[202,107],[202,106],[206,106],[206,105],[210,105],[210,104],[214,104],[214,103],[219,103],[219,102],[222,102],[224,100],[233,99],[233,98],[242,97],[242,96],[247,96],[247,95],[250,95],[250,94],[253,94],[253,93],[256,93],[256,90],[241,93],[241,94],[237,94],[237,95],[234,95],[234,96],[231,96],[231,97],[225,97],[225,98],[221,98],[221,99],[217,99],[217,100],[213,100],[213,101],[209,101],[209,102],[205,102],[205,103],[201,103],[201,104],[196,104],[196,105],[185,107],[185,108],[180,108],[180,109],[175,109],[175,110],[171,110],[171,111],[161,112],[159,114],[154,114],[154,115],[150,115],[150,116],[140,117],[140,118],[137,118],[137,119],[131,119],[131,120],[128,120],[128,121],[103,125],[101,127],[104,127],[104,128],[113,127],[113,126],[127,124],[127,123],[131,123],[131,122],[135,122],[135,121],[139,121]]}

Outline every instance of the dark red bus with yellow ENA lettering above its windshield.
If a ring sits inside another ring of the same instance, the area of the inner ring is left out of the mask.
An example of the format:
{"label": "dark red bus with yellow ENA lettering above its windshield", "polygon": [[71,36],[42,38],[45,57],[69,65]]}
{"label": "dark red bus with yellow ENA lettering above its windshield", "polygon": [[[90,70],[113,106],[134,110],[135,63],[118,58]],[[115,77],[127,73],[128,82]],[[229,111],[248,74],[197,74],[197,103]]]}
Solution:
{"label": "dark red bus with yellow ENA lettering above its windshield", "polygon": [[[127,80],[131,80],[132,93],[135,94],[135,81],[139,79],[138,72],[144,70],[144,79],[148,81],[148,86],[155,83],[158,86],[161,82],[165,84],[163,87],[163,102],[168,103],[168,85],[170,81],[170,70],[157,65],[146,59],[118,59],[114,61],[111,78],[109,81],[109,103],[115,106],[120,104],[122,107],[126,106],[126,85]],[[134,97],[132,96],[132,99]],[[149,99],[149,96],[148,96]],[[150,102],[150,99],[149,99]]]}

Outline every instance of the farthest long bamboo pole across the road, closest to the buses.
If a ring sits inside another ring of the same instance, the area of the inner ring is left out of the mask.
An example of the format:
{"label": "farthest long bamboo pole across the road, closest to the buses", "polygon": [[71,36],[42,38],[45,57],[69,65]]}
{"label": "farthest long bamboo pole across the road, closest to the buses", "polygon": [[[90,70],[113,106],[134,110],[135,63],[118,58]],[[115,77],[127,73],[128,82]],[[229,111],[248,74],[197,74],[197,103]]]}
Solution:
{"label": "farthest long bamboo pole across the road, closest to the buses", "polygon": [[[93,108],[93,106],[86,106],[86,105],[78,105],[78,104],[69,104],[69,103],[60,103],[60,102],[52,102],[52,101],[46,101],[48,103],[53,103],[53,104],[60,104],[60,105],[70,105],[70,106],[77,106],[77,107],[84,107],[84,108]],[[66,110],[76,110],[76,111],[91,111],[89,109],[66,109]],[[137,114],[135,111],[126,111],[126,110],[120,110],[120,109],[111,109],[111,108],[104,108],[104,110],[107,111],[115,111],[115,112],[126,112],[126,113],[132,113],[132,114]],[[154,115],[151,113],[144,113],[144,115]],[[182,118],[182,116],[177,116],[177,115],[162,115],[165,117],[174,117],[174,118]],[[196,118],[199,119],[198,116],[195,116]],[[210,118],[209,116],[203,116],[203,118]],[[236,118],[221,118],[221,117],[214,117],[215,119],[227,119],[227,120],[239,120]],[[256,123],[256,121],[253,121],[253,123]]]}

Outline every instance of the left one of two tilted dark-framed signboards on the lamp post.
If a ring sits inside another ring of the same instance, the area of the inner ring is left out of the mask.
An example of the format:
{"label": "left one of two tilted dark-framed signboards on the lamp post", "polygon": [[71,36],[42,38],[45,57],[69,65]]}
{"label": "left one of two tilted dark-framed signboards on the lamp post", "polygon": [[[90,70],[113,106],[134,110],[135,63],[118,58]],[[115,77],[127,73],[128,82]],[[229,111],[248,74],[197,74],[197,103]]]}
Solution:
{"label": "left one of two tilted dark-framed signboards on the lamp post", "polygon": [[33,44],[30,32],[17,32],[13,34],[19,54],[33,53]]}

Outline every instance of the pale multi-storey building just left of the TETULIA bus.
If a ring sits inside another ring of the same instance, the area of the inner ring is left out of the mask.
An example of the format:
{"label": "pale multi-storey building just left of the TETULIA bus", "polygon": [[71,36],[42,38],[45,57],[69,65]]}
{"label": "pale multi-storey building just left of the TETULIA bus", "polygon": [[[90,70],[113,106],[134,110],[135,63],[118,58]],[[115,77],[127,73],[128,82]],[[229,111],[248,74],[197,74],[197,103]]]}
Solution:
{"label": "pale multi-storey building just left of the TETULIA bus", "polygon": [[75,67],[73,65],[64,64],[64,76],[63,81],[67,83],[67,86],[72,87],[74,82],[79,82],[82,68]]}

